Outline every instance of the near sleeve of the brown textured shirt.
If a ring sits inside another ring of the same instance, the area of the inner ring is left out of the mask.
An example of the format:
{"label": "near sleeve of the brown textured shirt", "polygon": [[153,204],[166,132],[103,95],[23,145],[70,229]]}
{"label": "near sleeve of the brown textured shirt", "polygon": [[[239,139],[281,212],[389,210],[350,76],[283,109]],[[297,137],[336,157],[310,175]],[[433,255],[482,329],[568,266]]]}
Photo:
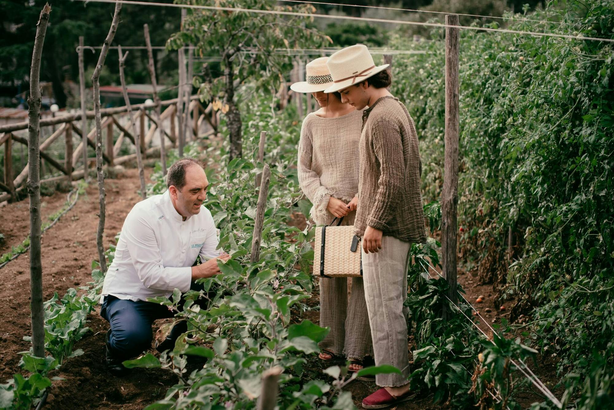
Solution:
{"label": "near sleeve of the brown textured shirt", "polygon": [[398,201],[402,198],[405,160],[400,128],[383,118],[371,126],[371,142],[379,161],[378,191],[367,225],[387,231]]}

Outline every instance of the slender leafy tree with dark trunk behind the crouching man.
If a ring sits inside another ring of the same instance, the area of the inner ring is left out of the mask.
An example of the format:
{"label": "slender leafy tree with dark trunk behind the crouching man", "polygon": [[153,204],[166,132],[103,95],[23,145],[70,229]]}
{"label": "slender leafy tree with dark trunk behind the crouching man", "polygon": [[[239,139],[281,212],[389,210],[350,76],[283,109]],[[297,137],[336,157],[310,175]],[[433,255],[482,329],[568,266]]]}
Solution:
{"label": "slender leafy tree with dark trunk behind the crouching man", "polygon": [[[210,3],[196,0],[190,4],[204,6]],[[216,6],[298,13],[315,10],[311,4],[276,6],[268,0],[218,0]],[[241,157],[243,145],[241,113],[235,99],[237,87],[249,80],[255,84],[256,93],[268,93],[292,69],[292,58],[279,52],[280,48],[317,48],[332,43],[330,37],[316,29],[305,28],[310,22],[311,18],[299,16],[188,10],[182,31],[169,39],[171,48],[193,44],[197,56],[221,58],[220,72],[204,66],[203,74],[196,76],[193,82],[203,101],[223,99],[222,112],[230,131],[231,159]]]}

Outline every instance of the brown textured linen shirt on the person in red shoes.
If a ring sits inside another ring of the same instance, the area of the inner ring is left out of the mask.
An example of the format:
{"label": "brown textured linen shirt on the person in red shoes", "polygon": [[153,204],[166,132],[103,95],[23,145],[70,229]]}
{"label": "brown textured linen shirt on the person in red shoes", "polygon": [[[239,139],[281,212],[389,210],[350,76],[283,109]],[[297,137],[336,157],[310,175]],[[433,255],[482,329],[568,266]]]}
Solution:
{"label": "brown textured linen shirt on the person in red shoes", "polygon": [[414,121],[398,98],[379,98],[363,112],[360,182],[354,227],[367,226],[406,242],[426,242]]}

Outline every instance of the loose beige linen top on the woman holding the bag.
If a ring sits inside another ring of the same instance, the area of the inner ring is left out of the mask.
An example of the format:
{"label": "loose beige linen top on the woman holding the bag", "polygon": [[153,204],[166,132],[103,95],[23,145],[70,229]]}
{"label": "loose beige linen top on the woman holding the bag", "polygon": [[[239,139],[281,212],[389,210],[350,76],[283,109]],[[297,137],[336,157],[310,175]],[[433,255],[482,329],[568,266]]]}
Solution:
{"label": "loose beige linen top on the woman holding the bag", "polygon": [[[359,141],[362,111],[336,118],[308,114],[298,144],[298,183],[313,203],[311,217],[317,225],[335,218],[326,209],[328,199],[348,203],[358,192]],[[355,212],[344,218],[351,224]]]}

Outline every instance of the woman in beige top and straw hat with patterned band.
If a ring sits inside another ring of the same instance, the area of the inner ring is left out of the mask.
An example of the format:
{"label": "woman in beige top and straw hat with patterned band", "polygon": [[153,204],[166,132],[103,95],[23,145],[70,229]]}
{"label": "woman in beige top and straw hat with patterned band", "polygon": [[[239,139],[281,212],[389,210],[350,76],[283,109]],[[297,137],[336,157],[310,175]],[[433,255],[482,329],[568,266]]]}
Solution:
{"label": "woman in beige top and straw hat with patterned band", "polygon": [[[339,93],[322,92],[332,85],[327,60],[322,57],[308,63],[307,81],[290,86],[297,93],[311,93],[321,107],[303,120],[298,182],[313,203],[314,222],[328,225],[335,218],[343,218],[341,225],[352,225],[358,201],[362,113],[341,103]],[[320,279],[320,325],[330,327],[330,332],[319,343],[319,357],[333,360],[344,354],[351,362],[350,371],[357,371],[363,367],[365,356],[373,357],[373,346],[362,278],[352,278],[349,303],[347,286],[345,277]]]}

